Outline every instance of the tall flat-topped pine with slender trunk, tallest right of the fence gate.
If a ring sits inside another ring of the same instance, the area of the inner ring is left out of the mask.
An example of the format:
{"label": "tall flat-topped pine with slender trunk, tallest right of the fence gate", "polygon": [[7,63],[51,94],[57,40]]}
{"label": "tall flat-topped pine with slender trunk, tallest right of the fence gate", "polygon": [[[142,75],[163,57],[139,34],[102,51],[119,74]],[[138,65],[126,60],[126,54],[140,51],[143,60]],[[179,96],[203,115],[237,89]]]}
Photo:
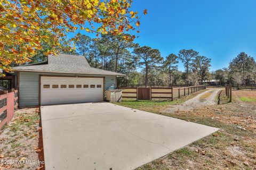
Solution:
{"label": "tall flat-topped pine with slender trunk, tallest right of the fence gate", "polygon": [[184,67],[186,68],[186,76],[188,78],[188,71],[191,66],[191,62],[194,58],[198,55],[198,52],[194,51],[193,49],[182,49],[179,52],[179,60],[183,63]]}

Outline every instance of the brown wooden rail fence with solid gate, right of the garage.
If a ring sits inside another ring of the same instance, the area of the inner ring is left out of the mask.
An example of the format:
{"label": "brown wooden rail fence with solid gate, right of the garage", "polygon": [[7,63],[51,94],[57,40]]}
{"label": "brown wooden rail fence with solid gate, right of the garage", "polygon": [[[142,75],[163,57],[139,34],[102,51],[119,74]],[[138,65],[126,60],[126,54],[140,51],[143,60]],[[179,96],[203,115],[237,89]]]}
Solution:
{"label": "brown wooden rail fence with solid gate, right of the garage", "polygon": [[181,98],[194,92],[204,90],[206,86],[189,87],[119,87],[122,89],[123,98],[136,98],[137,100],[170,99]]}

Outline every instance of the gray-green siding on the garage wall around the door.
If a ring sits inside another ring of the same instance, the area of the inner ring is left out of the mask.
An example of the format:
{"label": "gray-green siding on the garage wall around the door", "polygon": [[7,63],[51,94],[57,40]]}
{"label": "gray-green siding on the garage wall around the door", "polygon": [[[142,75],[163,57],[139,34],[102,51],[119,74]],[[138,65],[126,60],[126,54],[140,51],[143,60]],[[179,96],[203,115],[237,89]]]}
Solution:
{"label": "gray-green siding on the garage wall around the door", "polygon": [[[74,74],[58,74],[58,73],[36,73],[36,72],[20,72],[19,82],[19,101],[20,106],[37,106],[38,105],[38,90],[39,90],[39,75],[74,75]],[[77,74],[77,76],[92,76],[105,77],[105,90],[116,88],[115,75],[86,75]]]}

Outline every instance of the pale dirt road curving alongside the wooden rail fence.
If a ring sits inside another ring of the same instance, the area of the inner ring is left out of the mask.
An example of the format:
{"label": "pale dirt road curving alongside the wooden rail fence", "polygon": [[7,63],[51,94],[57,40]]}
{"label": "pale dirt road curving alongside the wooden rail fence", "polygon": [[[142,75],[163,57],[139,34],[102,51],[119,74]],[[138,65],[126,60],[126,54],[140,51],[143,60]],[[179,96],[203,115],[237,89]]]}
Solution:
{"label": "pale dirt road curving alongside the wooden rail fence", "polygon": [[185,103],[180,105],[173,105],[167,108],[164,112],[172,113],[175,111],[190,111],[194,108],[215,105],[215,97],[221,89],[209,89],[196,97],[187,100]]}

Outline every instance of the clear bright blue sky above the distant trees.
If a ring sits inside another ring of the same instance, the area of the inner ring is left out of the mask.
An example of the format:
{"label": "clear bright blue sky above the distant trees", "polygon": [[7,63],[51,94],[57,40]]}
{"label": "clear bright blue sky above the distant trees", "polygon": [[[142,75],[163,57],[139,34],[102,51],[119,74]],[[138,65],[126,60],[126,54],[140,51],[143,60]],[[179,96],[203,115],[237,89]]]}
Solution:
{"label": "clear bright blue sky above the distant trees", "polygon": [[134,11],[148,10],[135,42],[163,57],[192,48],[212,58],[211,71],[221,69],[240,52],[255,58],[255,7],[255,0],[134,0]]}

